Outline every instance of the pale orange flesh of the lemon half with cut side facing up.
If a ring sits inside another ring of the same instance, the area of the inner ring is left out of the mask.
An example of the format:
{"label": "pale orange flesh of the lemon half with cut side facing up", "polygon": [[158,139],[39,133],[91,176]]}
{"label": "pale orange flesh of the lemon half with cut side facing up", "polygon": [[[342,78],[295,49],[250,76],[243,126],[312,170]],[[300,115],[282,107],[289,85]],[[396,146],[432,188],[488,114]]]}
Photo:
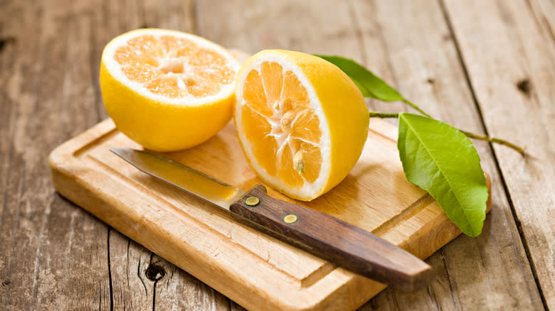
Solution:
{"label": "pale orange flesh of the lemon half with cut side facing up", "polygon": [[217,94],[235,75],[215,51],[174,36],[131,38],[115,50],[114,58],[129,80],[169,98]]}

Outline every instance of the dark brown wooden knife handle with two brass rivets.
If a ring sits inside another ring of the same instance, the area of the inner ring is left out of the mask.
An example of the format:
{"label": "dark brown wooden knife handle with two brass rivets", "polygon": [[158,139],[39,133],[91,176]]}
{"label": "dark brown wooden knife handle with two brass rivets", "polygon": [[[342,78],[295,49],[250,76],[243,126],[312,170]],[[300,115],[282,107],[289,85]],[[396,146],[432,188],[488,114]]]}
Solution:
{"label": "dark brown wooden knife handle with two brass rivets", "polygon": [[393,288],[418,290],[435,277],[411,253],[328,214],[270,197],[263,185],[248,190],[230,210],[239,222]]}

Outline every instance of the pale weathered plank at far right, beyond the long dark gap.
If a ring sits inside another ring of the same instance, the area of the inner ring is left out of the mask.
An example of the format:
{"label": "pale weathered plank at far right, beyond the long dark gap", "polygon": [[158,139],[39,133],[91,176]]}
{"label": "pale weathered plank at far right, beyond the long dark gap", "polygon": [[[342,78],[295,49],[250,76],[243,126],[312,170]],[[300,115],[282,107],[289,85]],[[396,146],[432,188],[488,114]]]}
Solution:
{"label": "pale weathered plank at far right, beyond the long dark gap", "polygon": [[527,146],[525,158],[494,150],[544,303],[555,308],[552,33],[524,1],[445,1],[445,8],[487,131]]}

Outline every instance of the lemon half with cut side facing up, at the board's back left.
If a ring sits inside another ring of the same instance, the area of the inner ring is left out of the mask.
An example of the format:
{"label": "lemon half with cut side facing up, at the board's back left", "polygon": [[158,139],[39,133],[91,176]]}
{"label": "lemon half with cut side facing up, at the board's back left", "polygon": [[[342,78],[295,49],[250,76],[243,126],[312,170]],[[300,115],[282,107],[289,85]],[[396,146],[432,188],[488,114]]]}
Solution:
{"label": "lemon half with cut side facing up, at the board's back left", "polygon": [[189,148],[231,119],[239,67],[226,49],[188,33],[130,31],[102,53],[102,99],[117,129],[145,148]]}

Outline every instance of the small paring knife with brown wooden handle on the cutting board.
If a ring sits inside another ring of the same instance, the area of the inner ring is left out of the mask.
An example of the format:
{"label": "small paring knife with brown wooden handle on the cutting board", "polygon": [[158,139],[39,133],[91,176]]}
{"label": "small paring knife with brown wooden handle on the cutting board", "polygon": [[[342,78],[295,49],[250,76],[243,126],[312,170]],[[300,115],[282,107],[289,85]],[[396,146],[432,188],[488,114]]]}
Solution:
{"label": "small paring knife with brown wooden handle on the cutting board", "polygon": [[407,251],[335,217],[277,200],[263,185],[247,192],[157,153],[110,148],[134,167],[231,212],[239,222],[367,278],[412,291],[435,274]]}

